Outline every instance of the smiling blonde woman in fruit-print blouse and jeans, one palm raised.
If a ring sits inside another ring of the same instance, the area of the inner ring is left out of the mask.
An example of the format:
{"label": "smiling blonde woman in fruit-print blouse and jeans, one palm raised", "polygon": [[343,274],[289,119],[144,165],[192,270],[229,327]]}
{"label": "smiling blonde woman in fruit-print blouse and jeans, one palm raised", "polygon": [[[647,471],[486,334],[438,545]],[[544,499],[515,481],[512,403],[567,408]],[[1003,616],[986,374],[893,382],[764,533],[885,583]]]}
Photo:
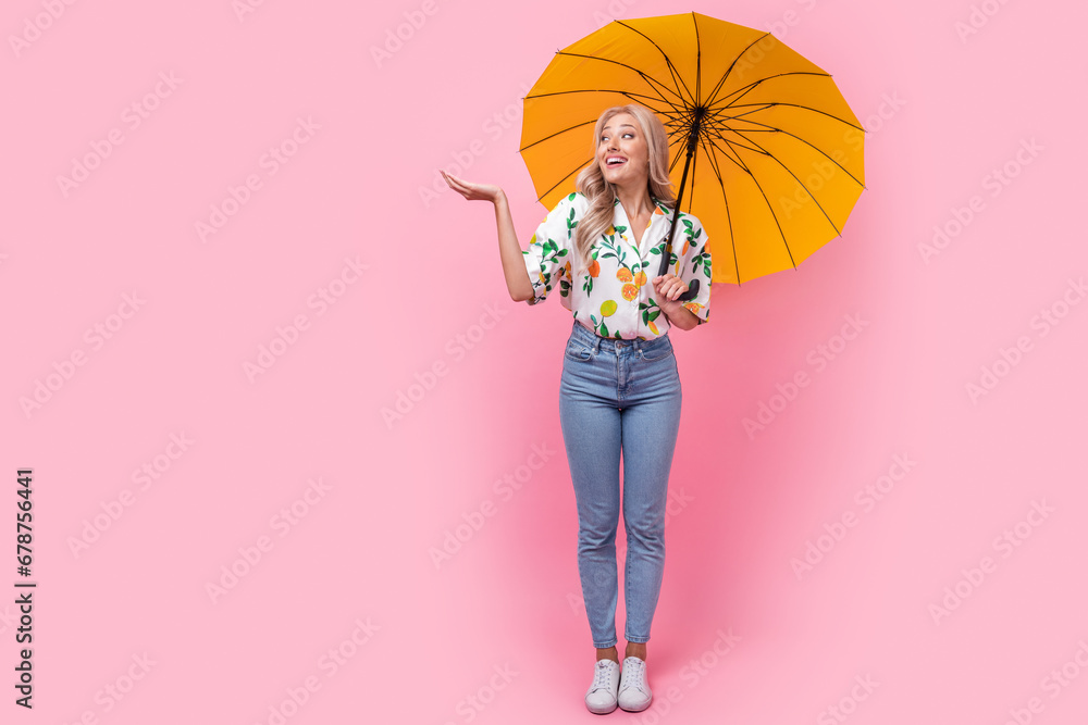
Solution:
{"label": "smiling blonde woman in fruit-print blouse and jeans, one palm raised", "polygon": [[[650,707],[646,642],[665,565],[665,503],[680,425],[680,376],[670,326],[707,322],[710,255],[698,220],[679,217],[673,261],[657,275],[676,203],[668,175],[668,137],[641,105],[607,109],[597,118],[594,162],[521,251],[510,209],[496,186],[442,172],[469,200],[495,204],[499,253],[515,301],[536,304],[559,287],[574,315],[559,384],[559,420],[578,502],[578,568],[597,650],[585,705]],[[698,279],[698,295],[678,298]],[[651,283],[647,285],[646,283]],[[627,651],[616,650],[616,528],[623,455]]]}

